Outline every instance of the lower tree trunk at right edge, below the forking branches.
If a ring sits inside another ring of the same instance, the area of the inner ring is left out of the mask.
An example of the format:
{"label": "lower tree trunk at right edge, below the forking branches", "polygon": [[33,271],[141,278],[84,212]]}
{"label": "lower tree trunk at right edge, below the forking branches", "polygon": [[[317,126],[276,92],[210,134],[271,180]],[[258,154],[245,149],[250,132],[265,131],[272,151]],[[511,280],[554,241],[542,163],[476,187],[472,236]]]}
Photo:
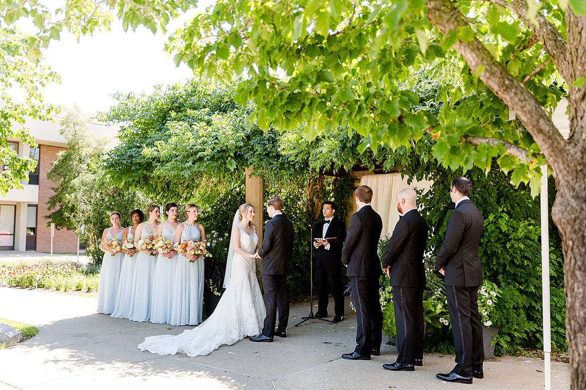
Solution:
{"label": "lower tree trunk at right edge, below the forking branches", "polygon": [[[564,251],[565,327],[571,389],[586,389],[586,164],[575,162],[573,177],[557,177],[551,216]],[[578,166],[580,164],[581,166]]]}

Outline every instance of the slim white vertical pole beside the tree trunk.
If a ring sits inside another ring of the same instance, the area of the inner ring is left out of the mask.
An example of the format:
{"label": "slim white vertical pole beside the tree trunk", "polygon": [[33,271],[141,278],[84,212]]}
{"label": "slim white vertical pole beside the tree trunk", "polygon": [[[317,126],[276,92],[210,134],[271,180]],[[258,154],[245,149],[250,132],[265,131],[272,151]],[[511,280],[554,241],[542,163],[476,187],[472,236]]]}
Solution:
{"label": "slim white vertical pole beside the tree trunk", "polygon": [[545,390],[551,390],[551,314],[549,272],[547,165],[541,165],[541,289],[543,294],[543,371],[545,374]]}

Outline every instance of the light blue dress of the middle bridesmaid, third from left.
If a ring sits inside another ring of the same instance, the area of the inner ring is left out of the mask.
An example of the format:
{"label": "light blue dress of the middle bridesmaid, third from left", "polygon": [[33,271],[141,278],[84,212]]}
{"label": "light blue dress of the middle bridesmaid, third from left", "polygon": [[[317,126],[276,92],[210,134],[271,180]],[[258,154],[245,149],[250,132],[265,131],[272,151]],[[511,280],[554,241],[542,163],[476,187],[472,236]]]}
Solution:
{"label": "light blue dress of the middle bridesmaid, third from left", "polygon": [[[146,238],[149,234],[156,236],[156,231],[149,231],[147,224],[143,223],[141,238]],[[156,256],[142,252],[138,252],[135,256],[137,256],[137,263],[134,269],[134,278],[132,278],[128,319],[144,322],[151,319],[152,281],[155,276]]]}

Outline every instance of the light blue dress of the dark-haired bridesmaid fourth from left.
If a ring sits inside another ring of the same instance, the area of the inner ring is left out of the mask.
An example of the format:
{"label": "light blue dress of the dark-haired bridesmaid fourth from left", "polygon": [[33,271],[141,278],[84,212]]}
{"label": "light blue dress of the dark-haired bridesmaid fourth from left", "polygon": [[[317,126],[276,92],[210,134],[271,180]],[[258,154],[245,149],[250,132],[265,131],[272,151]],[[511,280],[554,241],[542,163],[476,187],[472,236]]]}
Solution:
{"label": "light blue dress of the dark-haired bridesmaid fourth from left", "polygon": [[[163,225],[163,239],[175,242],[175,231]],[[152,283],[151,322],[164,324],[171,322],[171,307],[173,304],[173,282],[177,270],[179,254],[168,258],[159,254],[156,258],[155,279]]]}

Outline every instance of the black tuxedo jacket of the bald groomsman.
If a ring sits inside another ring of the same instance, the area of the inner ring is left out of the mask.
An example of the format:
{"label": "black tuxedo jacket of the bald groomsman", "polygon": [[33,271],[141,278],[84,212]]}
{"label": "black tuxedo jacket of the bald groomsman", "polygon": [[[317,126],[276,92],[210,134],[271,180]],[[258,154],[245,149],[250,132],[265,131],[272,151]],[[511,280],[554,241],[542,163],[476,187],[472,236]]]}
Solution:
{"label": "black tuxedo jacket of the bald groomsman", "polygon": [[427,222],[417,210],[399,219],[387,244],[383,268],[391,267],[391,285],[423,287],[425,267],[423,254],[427,246]]}

